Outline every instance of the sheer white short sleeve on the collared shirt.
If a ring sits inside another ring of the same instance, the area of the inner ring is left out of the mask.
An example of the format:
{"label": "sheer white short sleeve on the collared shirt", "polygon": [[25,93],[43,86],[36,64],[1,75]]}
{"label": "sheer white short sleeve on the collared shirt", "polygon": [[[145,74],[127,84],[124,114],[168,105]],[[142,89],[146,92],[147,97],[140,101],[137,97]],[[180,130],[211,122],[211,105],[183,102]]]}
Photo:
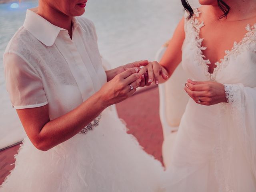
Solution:
{"label": "sheer white short sleeve on the collared shirt", "polygon": [[35,108],[48,104],[40,75],[18,53],[4,54],[4,75],[13,108]]}

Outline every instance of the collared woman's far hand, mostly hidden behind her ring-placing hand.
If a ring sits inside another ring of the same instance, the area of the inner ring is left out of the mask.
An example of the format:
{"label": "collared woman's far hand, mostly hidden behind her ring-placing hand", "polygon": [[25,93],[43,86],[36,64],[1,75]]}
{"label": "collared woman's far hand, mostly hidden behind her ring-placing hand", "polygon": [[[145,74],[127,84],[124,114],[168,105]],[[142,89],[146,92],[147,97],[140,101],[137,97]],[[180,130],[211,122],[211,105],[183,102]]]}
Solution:
{"label": "collared woman's far hand, mostly hidden behind her ring-placing hand", "polygon": [[107,75],[107,81],[109,82],[110,80],[112,80],[116,75],[124,72],[127,69],[130,68],[137,68],[138,70],[140,70],[141,66],[145,66],[148,64],[148,60],[141,60],[141,61],[136,61],[133,63],[128,63],[126,65],[114,68],[112,70],[108,70],[106,71],[106,75]]}

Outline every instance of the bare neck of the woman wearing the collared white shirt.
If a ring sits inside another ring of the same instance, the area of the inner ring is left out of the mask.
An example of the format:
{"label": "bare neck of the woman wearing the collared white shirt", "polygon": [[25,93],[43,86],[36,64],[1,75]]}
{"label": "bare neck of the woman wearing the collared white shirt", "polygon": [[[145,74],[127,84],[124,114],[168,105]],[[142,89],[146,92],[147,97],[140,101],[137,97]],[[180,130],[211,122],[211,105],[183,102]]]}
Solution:
{"label": "bare neck of the woman wearing the collared white shirt", "polygon": [[48,4],[39,1],[37,14],[48,20],[50,23],[72,32],[72,17],[52,8]]}

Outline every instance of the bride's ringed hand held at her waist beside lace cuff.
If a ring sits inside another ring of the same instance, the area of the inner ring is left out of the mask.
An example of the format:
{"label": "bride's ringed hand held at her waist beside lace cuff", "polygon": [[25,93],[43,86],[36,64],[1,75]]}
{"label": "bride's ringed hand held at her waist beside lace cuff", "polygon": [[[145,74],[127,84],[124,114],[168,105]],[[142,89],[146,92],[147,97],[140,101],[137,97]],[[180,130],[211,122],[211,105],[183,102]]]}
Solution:
{"label": "bride's ringed hand held at her waist beside lace cuff", "polygon": [[195,82],[188,79],[184,90],[198,104],[214,105],[227,102],[224,85],[218,82]]}

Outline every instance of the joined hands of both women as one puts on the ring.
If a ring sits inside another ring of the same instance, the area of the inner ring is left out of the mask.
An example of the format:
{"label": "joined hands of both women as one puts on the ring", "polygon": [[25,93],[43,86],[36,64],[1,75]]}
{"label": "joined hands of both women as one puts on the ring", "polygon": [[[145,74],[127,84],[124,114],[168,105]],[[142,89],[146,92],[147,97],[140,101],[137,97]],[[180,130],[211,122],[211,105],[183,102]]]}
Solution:
{"label": "joined hands of both women as one puts on the ring", "polygon": [[168,79],[166,69],[158,62],[133,62],[106,71],[107,83],[99,90],[102,105],[108,107],[130,97],[136,88],[159,84],[160,76]]}

